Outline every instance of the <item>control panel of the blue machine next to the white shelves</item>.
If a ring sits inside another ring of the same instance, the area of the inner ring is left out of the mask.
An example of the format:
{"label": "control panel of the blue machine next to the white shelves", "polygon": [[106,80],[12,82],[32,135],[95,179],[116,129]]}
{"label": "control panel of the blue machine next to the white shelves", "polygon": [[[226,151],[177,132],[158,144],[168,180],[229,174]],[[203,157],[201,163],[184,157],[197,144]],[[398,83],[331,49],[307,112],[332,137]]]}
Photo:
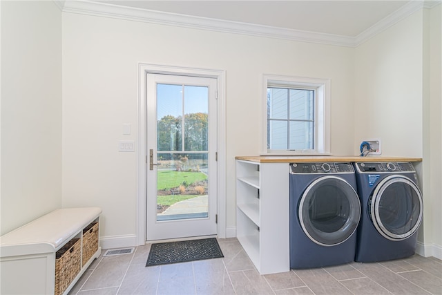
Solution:
{"label": "control panel of the blue machine next to the white shelves", "polygon": [[291,163],[291,173],[354,173],[350,162]]}

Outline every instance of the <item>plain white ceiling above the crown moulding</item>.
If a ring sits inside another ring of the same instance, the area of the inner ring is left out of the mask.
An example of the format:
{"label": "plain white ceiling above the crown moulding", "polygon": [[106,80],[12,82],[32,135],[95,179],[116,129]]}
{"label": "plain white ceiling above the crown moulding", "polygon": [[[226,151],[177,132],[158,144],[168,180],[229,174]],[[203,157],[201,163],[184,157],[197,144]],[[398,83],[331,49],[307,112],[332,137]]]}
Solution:
{"label": "plain white ceiling above the crown moulding", "polygon": [[[115,6],[356,37],[400,10],[404,0],[146,1],[95,0]],[[414,0],[416,2],[418,0]],[[419,1],[423,2],[423,1]]]}

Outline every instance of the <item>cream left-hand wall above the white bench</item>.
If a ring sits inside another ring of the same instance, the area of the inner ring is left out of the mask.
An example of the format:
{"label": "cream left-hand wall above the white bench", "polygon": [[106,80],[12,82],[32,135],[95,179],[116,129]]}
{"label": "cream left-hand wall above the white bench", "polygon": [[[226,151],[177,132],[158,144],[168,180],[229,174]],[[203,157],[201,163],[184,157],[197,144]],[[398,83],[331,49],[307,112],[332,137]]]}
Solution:
{"label": "cream left-hand wall above the white bench", "polygon": [[61,10],[1,1],[1,232],[61,207]]}

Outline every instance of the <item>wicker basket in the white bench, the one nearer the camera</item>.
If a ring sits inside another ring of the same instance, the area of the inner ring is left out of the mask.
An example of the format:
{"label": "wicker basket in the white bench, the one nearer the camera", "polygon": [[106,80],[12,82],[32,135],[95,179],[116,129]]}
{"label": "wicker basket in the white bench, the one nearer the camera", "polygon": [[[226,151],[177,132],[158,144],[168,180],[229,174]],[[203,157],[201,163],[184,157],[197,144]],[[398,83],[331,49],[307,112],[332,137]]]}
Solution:
{"label": "wicker basket in the white bench, the one nearer the camera", "polygon": [[81,269],[81,240],[73,238],[55,255],[55,295],[62,294]]}

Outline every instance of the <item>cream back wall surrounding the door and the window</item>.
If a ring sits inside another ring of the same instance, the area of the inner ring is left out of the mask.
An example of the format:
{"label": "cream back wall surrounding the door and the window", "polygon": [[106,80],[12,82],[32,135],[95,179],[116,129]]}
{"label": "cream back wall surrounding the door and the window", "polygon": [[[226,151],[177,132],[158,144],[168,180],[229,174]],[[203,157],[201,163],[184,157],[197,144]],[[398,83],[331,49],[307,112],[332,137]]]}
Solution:
{"label": "cream back wall surrounding the door and the window", "polygon": [[[135,234],[137,63],[227,71],[227,171],[260,152],[262,74],[332,79],[332,153],[351,154],[354,50],[136,21],[63,15],[63,206],[103,209],[102,236]],[[133,134],[122,135],[130,123]],[[227,227],[235,227],[227,173]],[[220,196],[224,198],[224,196]]]}

